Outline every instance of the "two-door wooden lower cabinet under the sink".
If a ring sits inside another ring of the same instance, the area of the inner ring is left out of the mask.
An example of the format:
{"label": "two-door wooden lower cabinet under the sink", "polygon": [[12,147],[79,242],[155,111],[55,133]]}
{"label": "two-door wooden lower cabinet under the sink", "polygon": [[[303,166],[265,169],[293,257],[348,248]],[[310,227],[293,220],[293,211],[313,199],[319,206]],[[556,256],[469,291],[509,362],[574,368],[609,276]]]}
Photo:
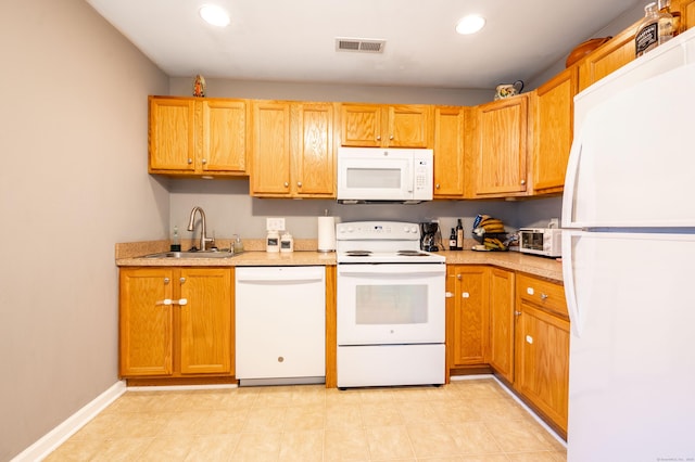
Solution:
{"label": "two-door wooden lower cabinet under the sink", "polygon": [[232,377],[232,271],[122,268],[119,375]]}

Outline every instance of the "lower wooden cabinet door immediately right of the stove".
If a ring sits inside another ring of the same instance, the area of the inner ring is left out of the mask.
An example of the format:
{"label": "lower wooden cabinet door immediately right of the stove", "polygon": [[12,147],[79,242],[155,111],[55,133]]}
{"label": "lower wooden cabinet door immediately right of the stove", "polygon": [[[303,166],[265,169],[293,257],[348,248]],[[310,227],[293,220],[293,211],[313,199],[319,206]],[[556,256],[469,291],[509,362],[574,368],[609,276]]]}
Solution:
{"label": "lower wooden cabinet door immediately right of the stove", "polygon": [[488,268],[457,266],[455,278],[451,364],[483,364],[490,319]]}

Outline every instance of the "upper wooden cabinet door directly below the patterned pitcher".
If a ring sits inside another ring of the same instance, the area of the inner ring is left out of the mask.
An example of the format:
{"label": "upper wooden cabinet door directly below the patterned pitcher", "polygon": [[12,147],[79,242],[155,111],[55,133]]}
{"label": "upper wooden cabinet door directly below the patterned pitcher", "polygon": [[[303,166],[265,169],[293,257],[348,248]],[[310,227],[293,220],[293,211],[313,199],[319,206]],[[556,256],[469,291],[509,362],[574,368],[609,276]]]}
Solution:
{"label": "upper wooden cabinet door directly below the patterned pitcher", "polygon": [[526,191],[528,94],[478,107],[477,195]]}

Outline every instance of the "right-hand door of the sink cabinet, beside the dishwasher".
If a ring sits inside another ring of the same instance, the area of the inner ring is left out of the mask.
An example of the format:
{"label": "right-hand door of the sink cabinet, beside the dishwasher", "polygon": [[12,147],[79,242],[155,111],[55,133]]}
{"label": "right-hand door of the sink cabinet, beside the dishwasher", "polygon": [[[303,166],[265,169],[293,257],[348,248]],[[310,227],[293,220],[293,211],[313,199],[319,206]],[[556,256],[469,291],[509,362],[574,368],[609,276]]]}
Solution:
{"label": "right-hand door of the sink cabinet, beside the dishwasher", "polygon": [[180,315],[181,374],[231,372],[231,270],[182,268],[180,294],[188,301]]}

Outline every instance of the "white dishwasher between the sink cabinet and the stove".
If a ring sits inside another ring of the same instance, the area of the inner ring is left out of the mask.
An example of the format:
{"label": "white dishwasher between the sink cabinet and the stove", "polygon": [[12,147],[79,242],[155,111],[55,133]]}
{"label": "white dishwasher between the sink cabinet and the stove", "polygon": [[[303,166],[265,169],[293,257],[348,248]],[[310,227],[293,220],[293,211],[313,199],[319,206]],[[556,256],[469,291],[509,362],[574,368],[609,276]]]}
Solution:
{"label": "white dishwasher between the sink cabinet and the stove", "polygon": [[236,268],[240,386],[326,382],[326,269]]}

